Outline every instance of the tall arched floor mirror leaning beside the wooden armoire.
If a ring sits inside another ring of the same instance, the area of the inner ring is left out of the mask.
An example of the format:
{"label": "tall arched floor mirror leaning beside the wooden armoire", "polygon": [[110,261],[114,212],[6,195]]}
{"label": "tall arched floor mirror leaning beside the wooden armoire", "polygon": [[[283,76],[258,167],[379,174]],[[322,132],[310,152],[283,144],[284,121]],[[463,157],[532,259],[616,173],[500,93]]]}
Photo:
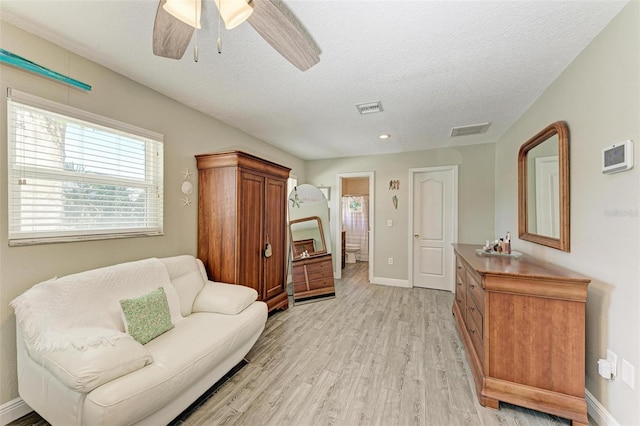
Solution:
{"label": "tall arched floor mirror leaning beside the wooden armoire", "polygon": [[289,194],[289,236],[295,303],[335,297],[329,206],[313,185]]}

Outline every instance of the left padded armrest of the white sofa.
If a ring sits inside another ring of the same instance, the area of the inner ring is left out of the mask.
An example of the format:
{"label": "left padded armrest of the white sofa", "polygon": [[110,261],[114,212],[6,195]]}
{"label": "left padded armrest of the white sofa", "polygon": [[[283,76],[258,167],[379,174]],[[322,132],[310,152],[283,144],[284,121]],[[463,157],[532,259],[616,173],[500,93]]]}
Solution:
{"label": "left padded armrest of the white sofa", "polygon": [[36,362],[69,388],[83,393],[153,362],[149,351],[127,335],[113,344],[84,349],[72,346],[39,355]]}

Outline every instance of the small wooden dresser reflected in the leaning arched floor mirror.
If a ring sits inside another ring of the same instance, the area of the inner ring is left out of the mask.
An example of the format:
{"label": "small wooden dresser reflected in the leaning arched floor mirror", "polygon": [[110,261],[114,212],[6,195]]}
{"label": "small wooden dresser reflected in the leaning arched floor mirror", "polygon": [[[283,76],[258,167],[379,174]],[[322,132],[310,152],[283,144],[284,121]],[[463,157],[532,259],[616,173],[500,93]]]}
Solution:
{"label": "small wooden dresser reflected in the leaning arched floor mirror", "polygon": [[318,296],[335,296],[331,254],[293,261],[293,294],[296,301]]}

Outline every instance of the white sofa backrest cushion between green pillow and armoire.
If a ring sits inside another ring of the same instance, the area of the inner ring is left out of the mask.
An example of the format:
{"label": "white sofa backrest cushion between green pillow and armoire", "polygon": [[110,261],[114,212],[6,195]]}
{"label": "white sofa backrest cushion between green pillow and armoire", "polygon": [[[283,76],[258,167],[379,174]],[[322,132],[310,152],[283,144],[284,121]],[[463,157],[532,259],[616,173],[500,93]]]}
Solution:
{"label": "white sofa backrest cushion between green pillow and armoire", "polygon": [[180,300],[180,313],[183,317],[191,314],[193,301],[204,286],[206,273],[203,278],[199,261],[189,255],[173,256],[160,259],[167,268],[169,278],[176,289]]}

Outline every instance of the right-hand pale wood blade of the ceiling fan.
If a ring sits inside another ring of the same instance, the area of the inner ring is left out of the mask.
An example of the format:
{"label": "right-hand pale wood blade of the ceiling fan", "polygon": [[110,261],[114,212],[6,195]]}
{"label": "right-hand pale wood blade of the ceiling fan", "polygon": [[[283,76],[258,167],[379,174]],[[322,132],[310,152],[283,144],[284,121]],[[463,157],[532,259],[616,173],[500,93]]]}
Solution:
{"label": "right-hand pale wood blade of the ceiling fan", "polygon": [[320,48],[281,0],[253,0],[249,24],[301,71],[320,62]]}

